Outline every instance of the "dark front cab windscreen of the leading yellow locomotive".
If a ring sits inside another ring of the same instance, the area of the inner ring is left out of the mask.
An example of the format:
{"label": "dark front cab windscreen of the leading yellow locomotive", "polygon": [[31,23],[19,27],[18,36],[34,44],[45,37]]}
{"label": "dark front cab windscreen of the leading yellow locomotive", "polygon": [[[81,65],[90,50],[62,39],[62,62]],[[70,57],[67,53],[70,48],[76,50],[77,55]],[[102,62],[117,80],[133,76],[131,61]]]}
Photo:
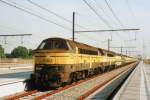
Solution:
{"label": "dark front cab windscreen of the leading yellow locomotive", "polygon": [[48,39],[43,41],[38,49],[65,49],[68,50],[68,46],[65,40],[61,39]]}

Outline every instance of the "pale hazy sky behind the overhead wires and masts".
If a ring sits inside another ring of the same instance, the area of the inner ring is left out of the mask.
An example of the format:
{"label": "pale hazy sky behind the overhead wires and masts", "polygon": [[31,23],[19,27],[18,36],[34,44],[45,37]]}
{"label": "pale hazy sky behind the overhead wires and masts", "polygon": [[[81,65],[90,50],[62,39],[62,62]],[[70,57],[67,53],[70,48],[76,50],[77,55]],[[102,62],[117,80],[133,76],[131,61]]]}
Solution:
{"label": "pale hazy sky behind the overhead wires and masts", "polygon": [[[9,6],[2,1],[23,8],[48,21]],[[53,13],[40,9],[29,2],[29,0],[0,0],[0,35],[32,34],[32,36],[26,36],[23,39],[21,37],[0,37],[0,44],[5,48],[5,53],[10,53],[17,46],[36,49],[43,39],[50,37],[71,39],[72,12],[75,12],[76,31],[120,28],[140,29],[139,31],[128,32],[75,33],[76,41],[107,49],[107,40],[112,35],[111,47],[134,46],[136,48],[124,48],[123,51],[136,51],[133,54],[144,54],[150,57],[148,52],[150,51],[150,0],[106,0],[117,18],[115,18],[105,0],[30,1],[39,4]],[[84,1],[88,2],[99,16]],[[69,20],[69,22],[62,20],[54,15],[54,13]],[[65,27],[65,29],[56,24]],[[21,40],[23,40],[23,44]],[[111,50],[120,52],[120,49],[111,48]]]}

